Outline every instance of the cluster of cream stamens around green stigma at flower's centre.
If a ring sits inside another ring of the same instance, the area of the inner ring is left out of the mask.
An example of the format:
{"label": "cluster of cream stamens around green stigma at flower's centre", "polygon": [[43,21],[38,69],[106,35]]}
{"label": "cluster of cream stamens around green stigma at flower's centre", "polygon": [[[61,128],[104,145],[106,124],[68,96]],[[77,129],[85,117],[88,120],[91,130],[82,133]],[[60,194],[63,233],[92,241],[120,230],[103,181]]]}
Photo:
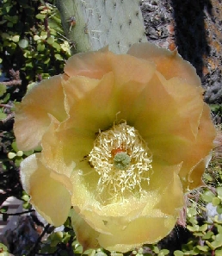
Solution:
{"label": "cluster of cream stamens around green stigma at flower's centre", "polygon": [[98,192],[125,197],[149,184],[151,151],[139,132],[124,123],[100,131],[89,153],[89,163],[100,175]]}

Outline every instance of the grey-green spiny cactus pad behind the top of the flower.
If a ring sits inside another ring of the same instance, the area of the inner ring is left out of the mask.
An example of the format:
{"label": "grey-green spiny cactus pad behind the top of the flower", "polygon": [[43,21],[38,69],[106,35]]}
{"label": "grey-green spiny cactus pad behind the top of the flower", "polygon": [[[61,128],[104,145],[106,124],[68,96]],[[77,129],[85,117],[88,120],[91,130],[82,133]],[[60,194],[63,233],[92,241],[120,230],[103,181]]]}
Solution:
{"label": "grey-green spiny cactus pad behind the top of the flower", "polygon": [[139,0],[58,0],[58,8],[73,53],[107,45],[126,53],[133,43],[146,41]]}

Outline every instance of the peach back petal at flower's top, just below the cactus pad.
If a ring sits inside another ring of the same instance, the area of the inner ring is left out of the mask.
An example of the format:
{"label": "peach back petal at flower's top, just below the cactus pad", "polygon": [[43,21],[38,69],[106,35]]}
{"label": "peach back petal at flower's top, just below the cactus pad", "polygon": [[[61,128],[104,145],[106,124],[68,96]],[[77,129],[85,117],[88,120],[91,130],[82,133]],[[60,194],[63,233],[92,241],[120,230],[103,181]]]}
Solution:
{"label": "peach back petal at flower's top, just below the cactus pad", "polygon": [[84,76],[101,79],[106,73],[114,72],[115,82],[128,81],[144,83],[151,78],[156,66],[144,59],[130,55],[116,55],[108,52],[108,47],[92,53],[77,53],[65,65],[65,73],[70,77]]}

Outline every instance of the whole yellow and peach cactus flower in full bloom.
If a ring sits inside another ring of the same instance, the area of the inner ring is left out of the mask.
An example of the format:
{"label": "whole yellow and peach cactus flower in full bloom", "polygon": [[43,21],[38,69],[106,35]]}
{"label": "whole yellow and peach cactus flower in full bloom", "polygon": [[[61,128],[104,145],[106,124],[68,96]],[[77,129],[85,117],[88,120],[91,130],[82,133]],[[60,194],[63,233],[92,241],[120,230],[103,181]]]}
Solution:
{"label": "whole yellow and peach cactus flower in full bloom", "polygon": [[42,147],[21,165],[31,203],[55,226],[72,206],[84,250],[161,240],[213,148],[202,93],[193,66],[151,43],[72,56],[15,110],[19,149]]}

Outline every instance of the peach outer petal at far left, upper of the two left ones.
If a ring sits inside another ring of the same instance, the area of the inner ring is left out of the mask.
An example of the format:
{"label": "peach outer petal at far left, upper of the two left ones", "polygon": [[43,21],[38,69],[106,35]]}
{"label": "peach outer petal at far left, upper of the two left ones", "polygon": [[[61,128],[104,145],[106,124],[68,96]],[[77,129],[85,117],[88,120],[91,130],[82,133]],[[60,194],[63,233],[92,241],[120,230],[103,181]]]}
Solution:
{"label": "peach outer petal at far left, upper of the two left ones", "polygon": [[61,76],[35,85],[16,107],[14,132],[19,149],[30,150],[40,145],[51,122],[50,115],[59,122],[67,117]]}

